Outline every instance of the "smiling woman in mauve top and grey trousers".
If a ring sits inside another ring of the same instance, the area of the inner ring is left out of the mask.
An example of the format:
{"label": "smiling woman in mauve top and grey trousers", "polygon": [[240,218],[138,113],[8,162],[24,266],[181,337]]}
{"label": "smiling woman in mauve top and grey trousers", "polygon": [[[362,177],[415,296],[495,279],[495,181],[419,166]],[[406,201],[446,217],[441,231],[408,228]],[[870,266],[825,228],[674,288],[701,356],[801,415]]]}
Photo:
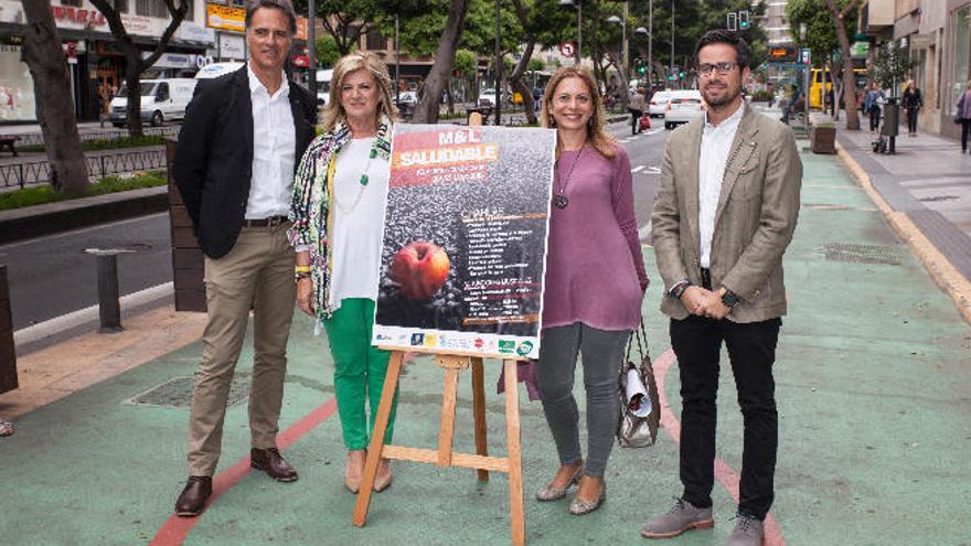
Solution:
{"label": "smiling woman in mauve top and grey trousers", "polygon": [[[557,160],[546,255],[537,384],[559,469],[536,499],[556,501],[574,483],[569,512],[606,497],[604,472],[620,417],[617,377],[648,287],[633,214],[630,159],[604,129],[601,99],[583,68],[562,67],[543,95],[543,125],[556,129]],[[573,396],[577,355],[587,393],[587,459]]]}

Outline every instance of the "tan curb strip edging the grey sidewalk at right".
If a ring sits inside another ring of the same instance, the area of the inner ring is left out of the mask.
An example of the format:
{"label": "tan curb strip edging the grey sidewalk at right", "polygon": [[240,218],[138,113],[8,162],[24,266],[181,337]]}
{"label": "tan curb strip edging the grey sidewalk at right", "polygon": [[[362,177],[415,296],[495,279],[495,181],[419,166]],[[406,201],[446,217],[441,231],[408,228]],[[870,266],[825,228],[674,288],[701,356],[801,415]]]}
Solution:
{"label": "tan curb strip edging the grey sidewalk at right", "polygon": [[965,279],[951,261],[937,249],[933,243],[924,235],[924,232],[914,225],[907,213],[895,211],[887,204],[883,195],[873,186],[869,174],[860,167],[860,163],[853,159],[853,156],[839,141],[835,144],[836,156],[843,160],[846,169],[866,191],[869,200],[879,208],[897,236],[907,243],[910,250],[924,264],[924,267],[937,286],[951,297],[964,322],[971,324],[971,281]]}

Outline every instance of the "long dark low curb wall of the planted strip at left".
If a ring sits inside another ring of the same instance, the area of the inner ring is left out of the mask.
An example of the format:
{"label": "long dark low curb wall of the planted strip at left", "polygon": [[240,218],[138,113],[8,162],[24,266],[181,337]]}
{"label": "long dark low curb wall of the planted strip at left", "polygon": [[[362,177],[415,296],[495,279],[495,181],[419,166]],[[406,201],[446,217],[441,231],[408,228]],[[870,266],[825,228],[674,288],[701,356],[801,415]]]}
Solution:
{"label": "long dark low curb wall of the planted strip at left", "polygon": [[0,213],[0,244],[168,210],[164,185],[15,208]]}

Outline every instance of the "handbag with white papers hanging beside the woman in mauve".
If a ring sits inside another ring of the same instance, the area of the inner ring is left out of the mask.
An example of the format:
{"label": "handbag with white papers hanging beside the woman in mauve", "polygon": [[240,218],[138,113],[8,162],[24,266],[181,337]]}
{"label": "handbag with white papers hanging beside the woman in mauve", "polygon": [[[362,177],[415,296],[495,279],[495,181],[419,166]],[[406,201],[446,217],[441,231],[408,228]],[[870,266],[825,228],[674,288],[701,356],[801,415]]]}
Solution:
{"label": "handbag with white papers hanging beside the woman in mauve", "polygon": [[[634,340],[639,363],[634,363],[630,354]],[[658,382],[654,379],[651,355],[648,352],[648,335],[643,319],[627,342],[627,354],[620,364],[618,383],[620,422],[617,426],[617,442],[621,448],[653,446],[658,440],[658,426],[661,424],[661,404],[658,398]]]}

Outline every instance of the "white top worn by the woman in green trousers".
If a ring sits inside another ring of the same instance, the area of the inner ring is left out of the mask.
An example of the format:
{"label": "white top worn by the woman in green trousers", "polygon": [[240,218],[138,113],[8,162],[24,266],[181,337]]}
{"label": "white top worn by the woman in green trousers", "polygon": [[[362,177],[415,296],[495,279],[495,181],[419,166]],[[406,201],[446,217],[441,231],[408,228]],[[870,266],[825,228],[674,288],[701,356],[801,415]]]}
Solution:
{"label": "white top worn by the woman in green trousers", "polygon": [[[333,182],[333,239],[330,303],[334,310],[346,298],[377,301],[384,208],[387,201],[387,160],[370,160],[374,138],[352,139],[338,153]],[[367,184],[361,175],[367,172]]]}

